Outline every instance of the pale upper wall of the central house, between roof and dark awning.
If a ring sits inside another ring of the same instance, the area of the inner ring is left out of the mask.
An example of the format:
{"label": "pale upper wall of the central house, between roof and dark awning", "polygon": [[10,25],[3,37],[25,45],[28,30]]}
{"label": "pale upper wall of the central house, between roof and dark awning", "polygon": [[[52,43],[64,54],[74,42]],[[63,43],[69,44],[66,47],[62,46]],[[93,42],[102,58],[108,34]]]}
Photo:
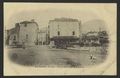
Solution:
{"label": "pale upper wall of the central house, between roof and dark awning", "polygon": [[58,31],[60,31],[60,36],[73,36],[72,32],[75,32],[74,36],[79,37],[79,22],[78,21],[52,21],[49,22],[49,34],[50,38],[58,36]]}

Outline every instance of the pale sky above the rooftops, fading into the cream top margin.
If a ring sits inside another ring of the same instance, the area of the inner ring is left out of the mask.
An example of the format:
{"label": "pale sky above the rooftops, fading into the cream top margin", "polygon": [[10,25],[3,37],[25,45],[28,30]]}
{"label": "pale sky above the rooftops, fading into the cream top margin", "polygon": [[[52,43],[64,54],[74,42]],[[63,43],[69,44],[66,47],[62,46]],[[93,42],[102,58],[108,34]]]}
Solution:
{"label": "pale sky above the rooftops, fading into the cream top margin", "polygon": [[[39,28],[42,28],[48,26],[49,20],[61,17],[78,19],[84,25],[82,28],[89,26],[88,29],[93,29],[95,27],[92,25],[96,24],[104,27],[111,21],[110,18],[114,17],[111,15],[114,13],[111,9],[114,6],[114,4],[87,3],[4,3],[4,27],[10,29],[15,27],[15,23],[34,19]],[[100,20],[100,22],[94,23],[95,21],[92,20]],[[90,25],[89,21],[92,21]]]}

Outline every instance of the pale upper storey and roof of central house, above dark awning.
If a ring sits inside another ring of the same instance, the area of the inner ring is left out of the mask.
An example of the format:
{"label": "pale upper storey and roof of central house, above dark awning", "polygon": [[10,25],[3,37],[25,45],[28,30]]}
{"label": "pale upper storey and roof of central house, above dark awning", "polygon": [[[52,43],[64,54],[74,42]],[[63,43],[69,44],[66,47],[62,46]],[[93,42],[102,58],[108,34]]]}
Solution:
{"label": "pale upper storey and roof of central house, above dark awning", "polygon": [[80,35],[80,21],[71,18],[56,18],[49,21],[50,38],[55,36],[76,36]]}

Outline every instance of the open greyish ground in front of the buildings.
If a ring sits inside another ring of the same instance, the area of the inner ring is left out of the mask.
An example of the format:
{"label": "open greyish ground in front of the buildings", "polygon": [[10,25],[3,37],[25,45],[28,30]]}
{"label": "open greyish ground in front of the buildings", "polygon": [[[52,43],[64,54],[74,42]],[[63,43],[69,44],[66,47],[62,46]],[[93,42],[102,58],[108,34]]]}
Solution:
{"label": "open greyish ground in front of the buildings", "polygon": [[55,49],[48,46],[7,49],[14,63],[35,67],[86,67],[102,63],[107,55],[102,53],[103,48],[100,47],[89,50]]}

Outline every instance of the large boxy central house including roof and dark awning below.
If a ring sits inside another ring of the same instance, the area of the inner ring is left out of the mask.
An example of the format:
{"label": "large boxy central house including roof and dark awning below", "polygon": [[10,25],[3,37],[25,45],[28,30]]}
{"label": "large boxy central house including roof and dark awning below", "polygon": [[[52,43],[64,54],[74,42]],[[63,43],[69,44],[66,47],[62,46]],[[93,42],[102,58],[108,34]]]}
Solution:
{"label": "large boxy central house including roof and dark awning below", "polygon": [[55,18],[48,24],[48,35],[51,43],[56,46],[66,47],[80,37],[81,22],[72,18]]}

